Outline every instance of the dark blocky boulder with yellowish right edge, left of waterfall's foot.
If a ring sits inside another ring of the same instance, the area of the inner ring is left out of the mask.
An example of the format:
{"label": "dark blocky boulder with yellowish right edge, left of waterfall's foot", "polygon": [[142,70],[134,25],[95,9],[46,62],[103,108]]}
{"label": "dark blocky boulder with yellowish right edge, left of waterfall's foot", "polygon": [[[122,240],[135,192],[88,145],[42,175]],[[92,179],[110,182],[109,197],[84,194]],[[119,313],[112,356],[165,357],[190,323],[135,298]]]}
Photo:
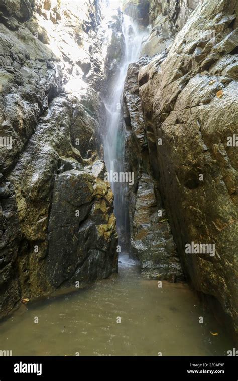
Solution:
{"label": "dark blocky boulder with yellowish right edge, left of waterfall's foot", "polygon": [[54,286],[90,282],[117,271],[115,217],[109,184],[69,170],[55,178],[47,268]]}

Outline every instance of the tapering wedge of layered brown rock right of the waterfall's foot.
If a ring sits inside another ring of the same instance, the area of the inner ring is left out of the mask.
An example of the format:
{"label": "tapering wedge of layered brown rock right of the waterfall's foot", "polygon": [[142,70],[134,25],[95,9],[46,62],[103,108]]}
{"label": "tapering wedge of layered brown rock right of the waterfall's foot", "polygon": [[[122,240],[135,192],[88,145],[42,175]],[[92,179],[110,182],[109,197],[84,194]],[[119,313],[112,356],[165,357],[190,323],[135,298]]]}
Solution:
{"label": "tapering wedge of layered brown rock right of the waterfall's foot", "polygon": [[153,180],[146,173],[136,194],[131,249],[147,278],[171,282],[184,279],[165,210],[156,200]]}

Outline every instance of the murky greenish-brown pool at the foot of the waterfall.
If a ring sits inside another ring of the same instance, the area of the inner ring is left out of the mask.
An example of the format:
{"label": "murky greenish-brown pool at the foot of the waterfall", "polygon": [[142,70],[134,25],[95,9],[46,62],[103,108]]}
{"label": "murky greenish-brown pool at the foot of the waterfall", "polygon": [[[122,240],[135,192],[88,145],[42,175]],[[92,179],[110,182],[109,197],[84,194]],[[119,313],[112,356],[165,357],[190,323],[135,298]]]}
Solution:
{"label": "murky greenish-brown pool at the foot of the waterfall", "polygon": [[13,355],[212,356],[233,348],[187,285],[158,288],[135,262],[126,256],[121,262],[117,276],[15,312],[0,324],[0,349]]}

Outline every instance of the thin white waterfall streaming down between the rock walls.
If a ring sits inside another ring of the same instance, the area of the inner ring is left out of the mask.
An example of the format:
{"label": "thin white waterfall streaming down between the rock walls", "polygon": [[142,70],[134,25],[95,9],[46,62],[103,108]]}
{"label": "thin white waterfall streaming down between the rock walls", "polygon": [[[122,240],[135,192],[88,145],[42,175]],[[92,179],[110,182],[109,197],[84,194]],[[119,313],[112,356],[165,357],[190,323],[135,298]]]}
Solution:
{"label": "thin white waterfall streaming down between the rock walls", "polygon": [[[123,88],[130,63],[138,61],[142,42],[148,31],[140,30],[138,25],[127,15],[123,16],[122,31],[125,40],[125,54],[118,73],[115,76],[111,90],[105,99],[106,107],[106,134],[104,138],[104,158],[109,174],[125,173],[124,144],[125,130],[123,128],[122,96]],[[129,174],[130,176],[130,174]],[[126,193],[128,182],[111,182],[114,194],[114,212],[117,221],[117,231],[120,244],[128,242],[128,207]]]}

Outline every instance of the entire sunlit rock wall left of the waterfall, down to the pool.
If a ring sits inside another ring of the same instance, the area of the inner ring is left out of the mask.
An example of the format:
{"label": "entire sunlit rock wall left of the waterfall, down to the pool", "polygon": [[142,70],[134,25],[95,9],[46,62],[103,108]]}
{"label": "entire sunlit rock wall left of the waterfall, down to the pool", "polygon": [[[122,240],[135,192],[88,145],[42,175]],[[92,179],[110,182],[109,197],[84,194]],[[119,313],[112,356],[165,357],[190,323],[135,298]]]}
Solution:
{"label": "entire sunlit rock wall left of the waterfall, down to the pool", "polygon": [[0,21],[2,317],[23,298],[109,276],[118,254],[99,151],[98,4],[2,1]]}

